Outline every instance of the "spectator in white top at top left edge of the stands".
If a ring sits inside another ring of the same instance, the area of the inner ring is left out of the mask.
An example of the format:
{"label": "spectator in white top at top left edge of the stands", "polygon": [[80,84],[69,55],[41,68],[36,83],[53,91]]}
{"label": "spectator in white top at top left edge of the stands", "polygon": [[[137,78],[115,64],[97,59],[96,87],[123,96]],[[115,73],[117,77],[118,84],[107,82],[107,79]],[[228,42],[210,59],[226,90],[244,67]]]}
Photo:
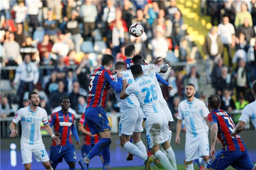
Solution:
{"label": "spectator in white top at top left edge of the stands", "polygon": [[18,4],[12,7],[13,11],[15,11],[15,22],[23,25],[28,13],[28,7],[25,6],[24,1],[18,1]]}

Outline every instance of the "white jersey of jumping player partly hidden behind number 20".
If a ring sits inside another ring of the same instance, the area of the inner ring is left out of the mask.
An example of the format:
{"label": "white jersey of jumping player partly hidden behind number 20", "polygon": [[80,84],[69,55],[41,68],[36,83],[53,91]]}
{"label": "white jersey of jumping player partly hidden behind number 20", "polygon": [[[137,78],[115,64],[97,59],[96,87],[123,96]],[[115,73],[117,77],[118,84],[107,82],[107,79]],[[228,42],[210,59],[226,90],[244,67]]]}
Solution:
{"label": "white jersey of jumping player partly hidden behind number 20", "polygon": [[[160,72],[160,67],[158,67],[155,64],[148,64],[148,65],[140,65],[143,70],[143,74],[145,76],[149,76],[154,80],[154,83],[156,84],[156,94],[159,101],[164,100],[164,96],[161,91],[161,87],[157,81],[156,73]],[[165,101],[165,100],[164,100]]]}

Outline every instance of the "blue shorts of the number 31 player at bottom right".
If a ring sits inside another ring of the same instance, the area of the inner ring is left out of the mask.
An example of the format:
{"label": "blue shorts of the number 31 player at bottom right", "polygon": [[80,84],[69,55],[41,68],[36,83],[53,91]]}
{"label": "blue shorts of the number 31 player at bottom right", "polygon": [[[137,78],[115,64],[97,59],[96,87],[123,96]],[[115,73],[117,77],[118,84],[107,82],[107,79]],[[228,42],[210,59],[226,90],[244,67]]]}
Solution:
{"label": "blue shorts of the number 31 player at bottom right", "polygon": [[252,170],[253,164],[247,151],[220,151],[207,164],[211,170],[224,170],[228,166],[239,170]]}

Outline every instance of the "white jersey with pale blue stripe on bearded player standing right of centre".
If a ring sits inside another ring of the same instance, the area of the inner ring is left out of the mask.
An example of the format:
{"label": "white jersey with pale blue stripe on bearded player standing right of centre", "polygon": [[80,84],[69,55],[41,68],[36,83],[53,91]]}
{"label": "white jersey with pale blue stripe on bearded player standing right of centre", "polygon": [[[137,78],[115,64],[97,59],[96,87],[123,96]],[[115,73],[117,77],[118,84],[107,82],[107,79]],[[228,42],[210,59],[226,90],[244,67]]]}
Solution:
{"label": "white jersey with pale blue stripe on bearded player standing right of centre", "polygon": [[177,119],[186,122],[186,139],[207,137],[204,118],[209,114],[204,102],[194,99],[192,102],[183,100],[178,106]]}

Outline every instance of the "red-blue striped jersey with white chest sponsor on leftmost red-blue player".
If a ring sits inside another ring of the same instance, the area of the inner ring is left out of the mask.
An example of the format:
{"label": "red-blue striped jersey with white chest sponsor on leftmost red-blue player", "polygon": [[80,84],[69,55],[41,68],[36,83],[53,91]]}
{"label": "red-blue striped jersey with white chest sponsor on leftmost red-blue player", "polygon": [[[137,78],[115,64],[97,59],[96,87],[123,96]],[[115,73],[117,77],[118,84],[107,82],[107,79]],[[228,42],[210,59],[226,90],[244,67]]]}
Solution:
{"label": "red-blue striped jersey with white chest sponsor on leftmost red-blue player", "polygon": [[[61,134],[61,146],[66,144],[72,144],[71,140],[71,127],[75,126],[75,115],[73,113],[68,112],[68,114],[63,114],[62,111],[55,112],[51,115],[51,119],[49,120],[49,125],[54,126],[54,131],[59,132]],[[54,140],[52,140],[52,146],[56,146]]]}

